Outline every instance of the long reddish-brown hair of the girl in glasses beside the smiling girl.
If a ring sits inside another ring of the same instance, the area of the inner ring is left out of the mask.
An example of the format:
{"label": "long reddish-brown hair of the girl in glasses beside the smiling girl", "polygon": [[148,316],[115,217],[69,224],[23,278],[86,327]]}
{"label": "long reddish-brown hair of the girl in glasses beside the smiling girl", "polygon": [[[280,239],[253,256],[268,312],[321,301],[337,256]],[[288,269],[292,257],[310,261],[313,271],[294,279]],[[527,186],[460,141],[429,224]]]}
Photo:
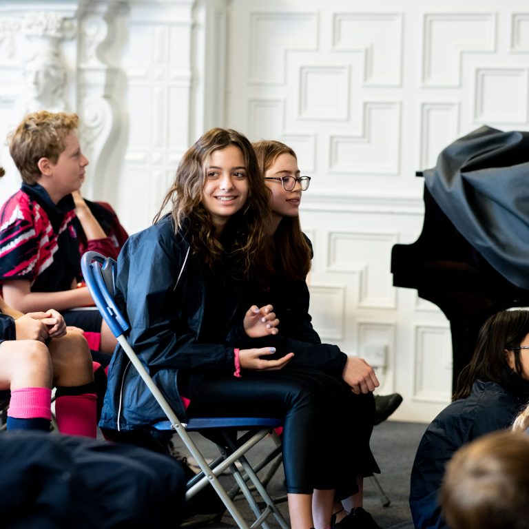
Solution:
{"label": "long reddish-brown hair of the girl in glasses beside the smiling girl", "polygon": [[[280,141],[258,141],[253,143],[253,149],[263,178],[281,154],[290,154],[298,159],[293,149]],[[301,231],[300,218],[283,217],[273,239],[276,267],[280,267],[280,273],[288,278],[304,281],[311,269],[312,252]]]}

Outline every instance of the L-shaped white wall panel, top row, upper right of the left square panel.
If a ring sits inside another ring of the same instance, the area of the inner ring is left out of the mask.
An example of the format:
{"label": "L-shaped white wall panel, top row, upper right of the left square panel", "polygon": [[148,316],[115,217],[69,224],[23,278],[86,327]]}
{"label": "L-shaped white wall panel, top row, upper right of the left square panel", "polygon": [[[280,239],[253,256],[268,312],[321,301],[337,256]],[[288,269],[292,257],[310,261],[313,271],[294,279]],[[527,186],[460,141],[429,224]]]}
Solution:
{"label": "L-shaped white wall panel, top row, upper right of the left square panel", "polygon": [[400,86],[402,21],[402,13],[335,13],[332,48],[362,53],[364,85]]}

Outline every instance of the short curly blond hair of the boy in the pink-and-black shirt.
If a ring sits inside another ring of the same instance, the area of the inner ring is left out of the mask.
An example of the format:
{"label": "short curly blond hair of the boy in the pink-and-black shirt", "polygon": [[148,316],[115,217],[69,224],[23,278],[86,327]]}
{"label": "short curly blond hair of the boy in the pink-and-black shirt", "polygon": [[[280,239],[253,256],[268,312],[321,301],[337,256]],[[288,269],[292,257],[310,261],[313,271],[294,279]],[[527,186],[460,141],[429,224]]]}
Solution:
{"label": "short curly blond hair of the boy in the pink-and-black shirt", "polygon": [[39,110],[27,114],[8,136],[9,150],[15,165],[28,185],[41,177],[41,158],[57,163],[66,147],[66,137],[79,127],[79,116],[67,112]]}

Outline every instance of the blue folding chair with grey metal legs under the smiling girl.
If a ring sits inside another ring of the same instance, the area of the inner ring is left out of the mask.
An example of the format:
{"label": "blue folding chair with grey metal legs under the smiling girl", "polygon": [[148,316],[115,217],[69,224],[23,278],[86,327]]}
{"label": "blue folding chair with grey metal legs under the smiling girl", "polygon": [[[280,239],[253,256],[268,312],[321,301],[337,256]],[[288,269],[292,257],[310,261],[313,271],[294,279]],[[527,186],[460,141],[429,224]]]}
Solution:
{"label": "blue folding chair with grey metal legs under the smiling girl", "polygon": [[[187,483],[186,499],[190,499],[207,484],[211,484],[239,528],[253,529],[262,526],[264,529],[268,529],[267,517],[273,515],[282,529],[288,529],[289,525],[284,521],[276,504],[245,457],[250,448],[266,435],[269,435],[273,428],[281,426],[282,421],[277,418],[262,417],[191,417],[187,423],[180,422],[165,399],[163,392],[154,384],[141,360],[125,338],[129,324],[114,302],[116,261],[105,258],[101,253],[89,251],[81,259],[81,269],[87,287],[103,319],[107,322],[121,348],[167,416],[167,421],[155,424],[154,428],[160,431],[176,432],[200,467],[200,473]],[[218,459],[208,464],[194,440],[189,436],[190,431],[198,431],[205,437],[208,437],[209,433],[215,433],[215,437],[222,439],[222,442],[216,442],[220,450]],[[242,433],[242,435],[234,435],[234,432]],[[240,464],[244,475],[236,463]],[[229,469],[234,476],[238,488],[242,491],[256,516],[251,525],[242,517],[229,492],[218,480],[218,476],[226,469]],[[247,481],[251,484],[251,488],[258,493],[258,499],[253,497]]]}

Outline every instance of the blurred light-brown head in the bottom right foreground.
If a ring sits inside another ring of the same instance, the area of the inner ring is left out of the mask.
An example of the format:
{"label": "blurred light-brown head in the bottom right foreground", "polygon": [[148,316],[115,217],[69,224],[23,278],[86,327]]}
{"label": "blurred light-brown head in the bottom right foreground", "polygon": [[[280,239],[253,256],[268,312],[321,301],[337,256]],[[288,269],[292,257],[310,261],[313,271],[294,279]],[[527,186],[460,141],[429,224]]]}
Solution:
{"label": "blurred light-brown head in the bottom right foreground", "polygon": [[457,450],[439,504],[451,529],[529,529],[529,436],[495,432]]}

